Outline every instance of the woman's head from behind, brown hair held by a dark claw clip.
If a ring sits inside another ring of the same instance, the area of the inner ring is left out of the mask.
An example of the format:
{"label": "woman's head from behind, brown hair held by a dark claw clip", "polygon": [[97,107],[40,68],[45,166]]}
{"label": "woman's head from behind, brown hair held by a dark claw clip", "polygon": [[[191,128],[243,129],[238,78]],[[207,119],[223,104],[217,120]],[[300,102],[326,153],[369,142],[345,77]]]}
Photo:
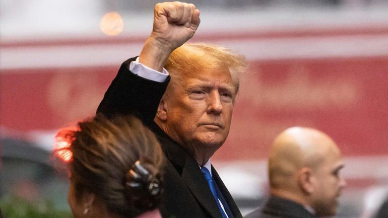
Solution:
{"label": "woman's head from behind, brown hair held by a dark claw clip", "polygon": [[71,144],[69,204],[76,218],[136,217],[158,206],[163,154],[136,117],[97,115],[57,139]]}

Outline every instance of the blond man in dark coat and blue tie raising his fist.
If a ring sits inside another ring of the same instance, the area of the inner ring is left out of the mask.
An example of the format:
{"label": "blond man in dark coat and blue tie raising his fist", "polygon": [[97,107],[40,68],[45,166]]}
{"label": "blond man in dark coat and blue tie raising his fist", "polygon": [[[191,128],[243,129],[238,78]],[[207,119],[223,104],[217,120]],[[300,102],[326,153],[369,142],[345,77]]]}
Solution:
{"label": "blond man in dark coat and blue tie raising his fist", "polygon": [[210,158],[230,128],[245,59],[229,49],[183,44],[200,24],[192,4],[160,3],[138,58],[125,61],[97,113],[135,114],[167,158],[163,217],[242,217]]}

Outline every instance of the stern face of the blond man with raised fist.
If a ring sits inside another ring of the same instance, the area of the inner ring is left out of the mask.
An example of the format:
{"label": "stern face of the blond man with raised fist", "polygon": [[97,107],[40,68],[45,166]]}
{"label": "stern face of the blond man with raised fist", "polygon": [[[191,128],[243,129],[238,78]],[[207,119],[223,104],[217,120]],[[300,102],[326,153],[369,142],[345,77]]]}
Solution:
{"label": "stern face of the blond man with raised fist", "polygon": [[236,97],[229,71],[190,72],[171,83],[166,92],[166,133],[194,153],[212,155],[229,133]]}

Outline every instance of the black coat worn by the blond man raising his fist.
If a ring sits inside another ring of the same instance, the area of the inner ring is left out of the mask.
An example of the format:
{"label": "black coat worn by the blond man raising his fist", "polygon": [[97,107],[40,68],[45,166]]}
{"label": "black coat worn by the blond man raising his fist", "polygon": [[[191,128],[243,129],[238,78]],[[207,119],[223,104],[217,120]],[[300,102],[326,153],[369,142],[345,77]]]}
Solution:
{"label": "black coat worn by the blond man raising his fist", "polygon": [[[107,117],[117,114],[135,114],[158,137],[167,159],[164,193],[160,206],[163,218],[222,218],[196,160],[153,121],[159,101],[170,78],[164,83],[158,83],[134,75],[128,70],[128,65],[133,60],[135,58],[129,59],[121,65],[116,78],[112,81],[98,107],[97,113],[103,113]],[[219,198],[223,198],[227,203],[225,209],[229,218],[242,218],[232,196],[213,167],[212,175],[217,190],[222,193]]]}

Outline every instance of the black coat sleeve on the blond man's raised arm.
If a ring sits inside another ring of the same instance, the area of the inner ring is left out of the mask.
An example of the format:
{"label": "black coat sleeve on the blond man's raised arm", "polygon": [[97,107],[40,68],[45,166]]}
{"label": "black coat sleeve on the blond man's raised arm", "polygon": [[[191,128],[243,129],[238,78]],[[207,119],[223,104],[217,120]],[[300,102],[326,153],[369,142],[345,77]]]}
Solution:
{"label": "black coat sleeve on the blond man's raised arm", "polygon": [[130,58],[121,64],[117,76],[97,108],[97,113],[106,117],[132,114],[149,125],[154,120],[170,77],[163,83],[139,77],[128,68],[131,61],[135,60],[136,57]]}

